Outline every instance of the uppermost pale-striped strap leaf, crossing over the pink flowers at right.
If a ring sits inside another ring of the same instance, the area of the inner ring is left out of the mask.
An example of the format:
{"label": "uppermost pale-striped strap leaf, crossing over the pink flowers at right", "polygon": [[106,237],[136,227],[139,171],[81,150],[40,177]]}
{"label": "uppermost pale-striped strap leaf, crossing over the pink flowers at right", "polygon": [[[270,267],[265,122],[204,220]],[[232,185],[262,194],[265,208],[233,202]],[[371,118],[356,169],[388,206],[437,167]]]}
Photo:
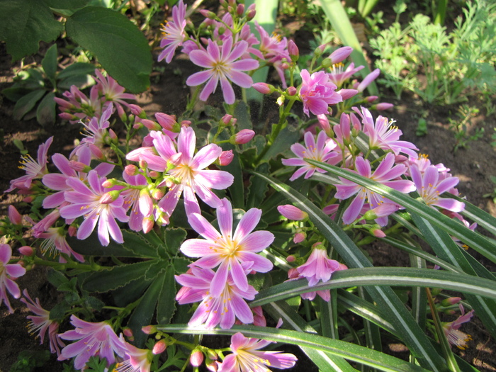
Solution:
{"label": "uppermost pale-striped strap leaf, crossing over the pink flowers at right", "polygon": [[366,187],[375,193],[389,198],[391,201],[394,201],[395,203],[398,203],[407,208],[410,213],[416,213],[417,215],[431,222],[432,225],[441,227],[442,230],[445,230],[450,235],[457,237],[462,242],[468,244],[471,248],[475,249],[480,254],[483,254],[491,261],[496,262],[495,244],[490,242],[489,239],[486,239],[482,235],[473,232],[468,227],[465,227],[465,225],[462,225],[460,222],[457,222],[456,220],[443,215],[438,210],[434,210],[434,208],[430,208],[427,204],[420,203],[410,196],[405,195],[404,193],[400,193],[399,191],[396,191],[388,186],[384,186],[383,184],[373,181],[372,179],[368,179],[366,177],[360,176],[359,174],[352,173],[348,169],[342,169],[339,167],[335,167],[334,165],[317,162],[312,159],[307,159],[307,162],[321,169],[329,171],[331,174],[341,176],[344,179],[353,181],[360,186]]}

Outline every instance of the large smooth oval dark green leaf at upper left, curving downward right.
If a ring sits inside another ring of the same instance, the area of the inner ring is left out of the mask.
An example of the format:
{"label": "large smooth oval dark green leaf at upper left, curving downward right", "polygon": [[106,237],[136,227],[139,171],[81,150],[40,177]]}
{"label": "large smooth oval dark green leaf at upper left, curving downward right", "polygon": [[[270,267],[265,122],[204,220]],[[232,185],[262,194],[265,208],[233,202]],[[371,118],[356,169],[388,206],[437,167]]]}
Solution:
{"label": "large smooth oval dark green leaf at upper left, curving downward right", "polygon": [[65,25],[67,36],[96,55],[118,83],[132,92],[150,86],[152,53],[145,35],[126,16],[111,9],[88,6]]}

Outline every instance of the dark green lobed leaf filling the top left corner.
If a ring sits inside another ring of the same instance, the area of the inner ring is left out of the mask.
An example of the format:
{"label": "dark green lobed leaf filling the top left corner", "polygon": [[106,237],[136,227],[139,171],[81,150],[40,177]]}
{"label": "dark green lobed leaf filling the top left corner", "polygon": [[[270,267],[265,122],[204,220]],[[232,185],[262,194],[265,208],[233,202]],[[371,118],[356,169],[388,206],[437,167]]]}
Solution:
{"label": "dark green lobed leaf filling the top left corner", "polygon": [[64,28],[43,1],[0,0],[0,9],[0,40],[13,61],[37,52],[40,40],[50,43]]}

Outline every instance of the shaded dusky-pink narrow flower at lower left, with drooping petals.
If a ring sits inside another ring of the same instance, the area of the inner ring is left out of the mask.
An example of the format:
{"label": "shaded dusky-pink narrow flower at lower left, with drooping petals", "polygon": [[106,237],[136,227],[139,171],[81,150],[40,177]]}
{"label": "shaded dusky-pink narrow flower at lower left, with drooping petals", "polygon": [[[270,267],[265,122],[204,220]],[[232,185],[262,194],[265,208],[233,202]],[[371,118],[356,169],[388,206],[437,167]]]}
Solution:
{"label": "shaded dusky-pink narrow flower at lower left, with drooping petals", "polygon": [[50,311],[41,307],[40,300],[38,298],[36,298],[36,302],[33,301],[26,289],[23,291],[23,295],[27,298],[27,300],[26,298],[21,298],[21,301],[28,306],[31,312],[36,314],[28,316],[28,319],[30,320],[28,324],[30,334],[38,332],[40,344],[43,344],[45,334],[48,331],[50,351],[52,353],[57,353],[57,356],[60,355],[60,347],[64,347],[65,344],[59,337],[57,337],[57,333],[59,332],[59,323],[55,322],[55,320],[50,320]]}

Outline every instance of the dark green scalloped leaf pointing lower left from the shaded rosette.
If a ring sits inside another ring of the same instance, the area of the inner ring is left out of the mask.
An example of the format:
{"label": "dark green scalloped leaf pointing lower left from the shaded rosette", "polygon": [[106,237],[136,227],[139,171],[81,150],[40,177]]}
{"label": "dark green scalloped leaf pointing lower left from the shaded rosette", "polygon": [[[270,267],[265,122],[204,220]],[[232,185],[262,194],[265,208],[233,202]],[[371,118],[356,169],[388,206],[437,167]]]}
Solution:
{"label": "dark green scalloped leaf pointing lower left from the shaded rosette", "polygon": [[83,283],[83,289],[90,292],[108,292],[120,288],[145,276],[155,260],[137,262],[135,264],[112,266],[109,269],[91,273]]}

